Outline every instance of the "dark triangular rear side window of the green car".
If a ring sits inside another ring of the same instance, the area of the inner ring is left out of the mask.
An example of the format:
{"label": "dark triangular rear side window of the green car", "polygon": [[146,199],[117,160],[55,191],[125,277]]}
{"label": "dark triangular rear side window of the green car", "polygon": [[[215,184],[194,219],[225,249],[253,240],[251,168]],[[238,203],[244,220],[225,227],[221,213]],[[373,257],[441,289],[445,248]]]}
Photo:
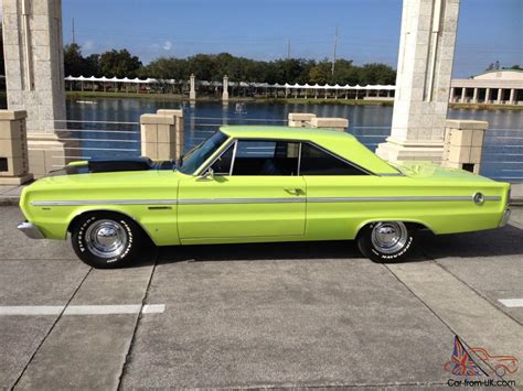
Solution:
{"label": "dark triangular rear side window of the green car", "polygon": [[302,143],[300,175],[366,175],[366,173],[314,145]]}

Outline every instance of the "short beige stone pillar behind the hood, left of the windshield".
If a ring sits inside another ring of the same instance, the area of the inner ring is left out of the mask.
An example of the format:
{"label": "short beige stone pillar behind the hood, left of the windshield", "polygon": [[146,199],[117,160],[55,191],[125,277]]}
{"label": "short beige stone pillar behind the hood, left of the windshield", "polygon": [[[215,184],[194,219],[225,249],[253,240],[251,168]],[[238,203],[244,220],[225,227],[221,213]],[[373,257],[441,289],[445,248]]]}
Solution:
{"label": "short beige stone pillar behind the hood, left of the windshield", "polygon": [[180,123],[183,126],[181,110],[158,110],[156,115],[140,116],[141,154],[152,160],[180,158],[183,150]]}

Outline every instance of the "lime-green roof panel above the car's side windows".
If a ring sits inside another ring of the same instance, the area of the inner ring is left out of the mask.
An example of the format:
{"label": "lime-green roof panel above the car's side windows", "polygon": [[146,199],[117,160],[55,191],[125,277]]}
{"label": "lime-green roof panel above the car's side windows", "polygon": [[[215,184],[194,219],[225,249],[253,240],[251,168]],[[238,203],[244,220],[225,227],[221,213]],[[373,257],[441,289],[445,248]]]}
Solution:
{"label": "lime-green roof panel above the car's side windows", "polygon": [[275,126],[224,126],[220,130],[233,138],[246,139],[287,139],[287,140],[318,140],[335,139],[348,141],[356,140],[352,134],[335,129],[292,128]]}

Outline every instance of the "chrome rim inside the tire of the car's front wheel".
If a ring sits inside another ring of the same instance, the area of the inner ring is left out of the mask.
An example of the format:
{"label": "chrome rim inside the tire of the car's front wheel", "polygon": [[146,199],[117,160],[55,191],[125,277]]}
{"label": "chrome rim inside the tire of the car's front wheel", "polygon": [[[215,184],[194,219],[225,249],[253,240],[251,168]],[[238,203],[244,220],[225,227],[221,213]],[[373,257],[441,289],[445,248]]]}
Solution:
{"label": "chrome rim inside the tire of the car's front wheel", "polygon": [[93,222],[85,232],[89,251],[100,258],[120,256],[127,247],[128,236],[124,226],[115,220]]}

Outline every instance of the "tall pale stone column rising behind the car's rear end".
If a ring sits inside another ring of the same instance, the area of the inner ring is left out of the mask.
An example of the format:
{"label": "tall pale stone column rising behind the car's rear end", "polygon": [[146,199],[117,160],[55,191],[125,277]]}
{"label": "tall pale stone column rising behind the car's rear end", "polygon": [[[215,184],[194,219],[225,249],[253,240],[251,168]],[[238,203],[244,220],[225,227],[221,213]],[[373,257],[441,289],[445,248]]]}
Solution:
{"label": "tall pale stone column rising behind the car's rear end", "polygon": [[404,0],[391,137],[385,160],[441,161],[459,0]]}

